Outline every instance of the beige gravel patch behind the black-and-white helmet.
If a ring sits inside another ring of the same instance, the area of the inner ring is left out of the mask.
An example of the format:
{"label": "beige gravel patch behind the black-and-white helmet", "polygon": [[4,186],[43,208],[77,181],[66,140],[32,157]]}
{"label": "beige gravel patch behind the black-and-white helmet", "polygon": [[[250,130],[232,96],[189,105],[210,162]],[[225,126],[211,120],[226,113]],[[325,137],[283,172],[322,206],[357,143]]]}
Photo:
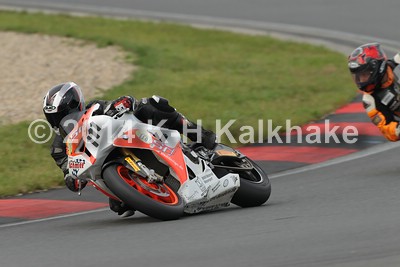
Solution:
{"label": "beige gravel patch behind the black-and-white helmet", "polygon": [[43,97],[56,84],[74,81],[91,99],[135,69],[119,47],[66,37],[0,32],[0,47],[0,125],[44,118]]}

